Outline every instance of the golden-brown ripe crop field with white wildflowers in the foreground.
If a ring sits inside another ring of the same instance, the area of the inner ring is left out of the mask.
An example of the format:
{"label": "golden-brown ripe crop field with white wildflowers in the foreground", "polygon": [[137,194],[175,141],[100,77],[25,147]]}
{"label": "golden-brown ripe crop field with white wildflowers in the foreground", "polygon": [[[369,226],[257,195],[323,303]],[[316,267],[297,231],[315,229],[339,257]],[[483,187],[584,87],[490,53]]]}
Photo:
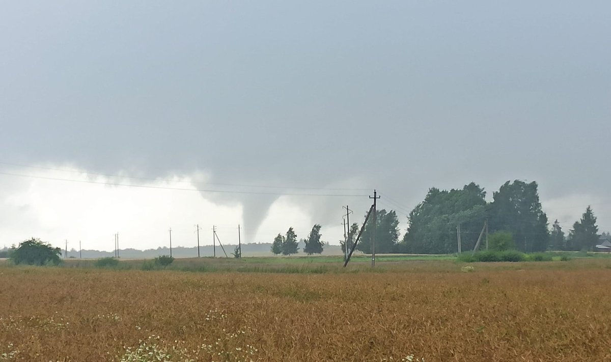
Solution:
{"label": "golden-brown ripe crop field with white wildflowers in the foreground", "polygon": [[609,260],[403,264],[0,267],[0,361],[611,360]]}

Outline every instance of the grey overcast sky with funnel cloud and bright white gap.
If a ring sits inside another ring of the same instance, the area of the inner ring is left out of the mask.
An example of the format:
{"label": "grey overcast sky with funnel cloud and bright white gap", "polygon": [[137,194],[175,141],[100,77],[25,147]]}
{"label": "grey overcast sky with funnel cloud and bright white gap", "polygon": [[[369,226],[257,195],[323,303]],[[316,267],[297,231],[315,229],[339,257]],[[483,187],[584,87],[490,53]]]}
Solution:
{"label": "grey overcast sky with funnel cloud and bright white gap", "polygon": [[588,204],[611,231],[610,19],[608,1],[4,2],[0,248],[156,248],[169,227],[193,246],[197,223],[224,243],[320,223],[337,244],[373,188],[403,234],[430,187],[514,179],[565,231]]}

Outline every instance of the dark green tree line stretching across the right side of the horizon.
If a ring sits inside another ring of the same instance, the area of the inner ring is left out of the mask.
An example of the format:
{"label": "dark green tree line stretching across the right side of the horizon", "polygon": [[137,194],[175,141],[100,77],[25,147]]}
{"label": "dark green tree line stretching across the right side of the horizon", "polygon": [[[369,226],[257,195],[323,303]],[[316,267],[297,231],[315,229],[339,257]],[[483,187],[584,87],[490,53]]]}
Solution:
{"label": "dark green tree line stretching across the right side of the horizon", "polygon": [[[408,228],[400,238],[397,213],[378,210],[375,227],[376,253],[450,254],[456,253],[460,225],[462,250],[472,250],[484,224],[491,241],[500,248],[524,253],[555,250],[591,250],[599,240],[596,216],[588,206],[580,220],[565,236],[556,220],[551,229],[541,209],[536,182],[507,181],[486,201],[486,191],[474,182],[462,189],[430,188],[424,200],[408,215]],[[354,243],[359,226],[350,226],[348,248]],[[365,225],[356,249],[371,253],[373,220]],[[346,242],[340,242],[342,250]]]}

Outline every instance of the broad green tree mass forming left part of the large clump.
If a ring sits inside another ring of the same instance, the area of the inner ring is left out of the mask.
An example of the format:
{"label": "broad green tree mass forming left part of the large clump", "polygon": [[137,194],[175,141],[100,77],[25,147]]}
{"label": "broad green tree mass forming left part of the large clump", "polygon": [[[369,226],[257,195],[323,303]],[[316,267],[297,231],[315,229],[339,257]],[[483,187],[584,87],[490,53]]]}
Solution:
{"label": "broad green tree mass forming left part of the large clump", "polygon": [[408,232],[400,251],[415,254],[456,253],[456,226],[461,224],[463,250],[473,249],[486,219],[486,192],[474,182],[462,190],[431,188],[409,213]]}

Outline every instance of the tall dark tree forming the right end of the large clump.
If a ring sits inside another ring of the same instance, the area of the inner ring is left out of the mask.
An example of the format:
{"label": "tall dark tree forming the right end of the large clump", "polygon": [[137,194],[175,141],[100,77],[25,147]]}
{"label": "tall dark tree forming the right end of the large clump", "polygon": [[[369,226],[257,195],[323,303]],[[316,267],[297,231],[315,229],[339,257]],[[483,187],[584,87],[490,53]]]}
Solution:
{"label": "tall dark tree forming the right end of the large clump", "polygon": [[541,209],[537,187],[534,181],[507,181],[494,193],[489,209],[489,229],[511,232],[516,247],[525,252],[544,251],[549,245],[547,215]]}

